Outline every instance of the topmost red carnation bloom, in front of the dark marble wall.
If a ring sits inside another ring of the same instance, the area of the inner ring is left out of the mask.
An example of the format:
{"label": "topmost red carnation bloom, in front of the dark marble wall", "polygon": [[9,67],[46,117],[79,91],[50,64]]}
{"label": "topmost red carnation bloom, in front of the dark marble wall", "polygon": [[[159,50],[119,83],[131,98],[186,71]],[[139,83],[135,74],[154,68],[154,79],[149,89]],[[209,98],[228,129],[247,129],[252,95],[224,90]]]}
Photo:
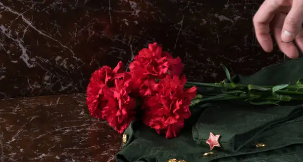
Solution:
{"label": "topmost red carnation bloom, in front of the dark marble wall", "polygon": [[[130,64],[130,72],[133,75],[134,82],[133,88],[141,96],[153,94],[155,87],[151,83],[155,80],[163,79],[169,74],[180,75],[182,70],[181,59],[172,58],[168,52],[162,51],[162,47],[157,45],[156,42],[149,44],[149,48],[140,50]],[[153,87],[147,87],[146,85]]]}

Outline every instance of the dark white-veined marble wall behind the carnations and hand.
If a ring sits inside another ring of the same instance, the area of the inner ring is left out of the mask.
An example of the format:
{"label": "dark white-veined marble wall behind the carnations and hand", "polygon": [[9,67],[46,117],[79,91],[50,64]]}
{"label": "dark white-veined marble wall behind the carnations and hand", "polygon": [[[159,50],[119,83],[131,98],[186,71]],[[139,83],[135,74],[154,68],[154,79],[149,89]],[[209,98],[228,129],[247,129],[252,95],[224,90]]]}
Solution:
{"label": "dark white-veined marble wall behind the carnations and hand", "polygon": [[0,0],[0,98],[84,92],[102,65],[157,41],[191,80],[252,74],[281,62],[255,39],[263,0]]}

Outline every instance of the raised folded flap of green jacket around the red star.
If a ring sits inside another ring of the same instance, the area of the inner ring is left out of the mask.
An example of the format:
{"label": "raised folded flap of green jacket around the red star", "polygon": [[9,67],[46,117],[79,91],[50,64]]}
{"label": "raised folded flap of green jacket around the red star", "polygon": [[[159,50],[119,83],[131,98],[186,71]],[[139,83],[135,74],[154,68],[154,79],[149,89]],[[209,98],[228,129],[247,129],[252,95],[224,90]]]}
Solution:
{"label": "raised folded flap of green jacket around the red star", "polygon": [[[248,143],[263,143],[256,137],[265,130],[270,130],[277,124],[293,121],[303,115],[303,106],[255,107],[237,103],[222,103],[209,107],[193,126],[193,139],[198,145],[209,147],[205,141],[209,132],[220,134],[222,149],[237,152]],[[284,132],[277,132],[279,135]],[[288,138],[277,141],[287,146]],[[296,142],[295,142],[296,143]],[[252,145],[249,145],[251,147]],[[269,147],[267,147],[269,148]]]}

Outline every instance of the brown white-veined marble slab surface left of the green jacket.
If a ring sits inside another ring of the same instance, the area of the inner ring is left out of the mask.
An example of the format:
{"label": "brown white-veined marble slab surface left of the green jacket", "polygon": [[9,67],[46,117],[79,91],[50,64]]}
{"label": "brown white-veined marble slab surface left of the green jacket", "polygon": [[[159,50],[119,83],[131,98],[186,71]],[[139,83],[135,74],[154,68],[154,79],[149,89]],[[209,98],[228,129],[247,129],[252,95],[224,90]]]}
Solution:
{"label": "brown white-veined marble slab surface left of the green jacket", "polygon": [[0,162],[115,162],[121,136],[82,93],[0,100]]}

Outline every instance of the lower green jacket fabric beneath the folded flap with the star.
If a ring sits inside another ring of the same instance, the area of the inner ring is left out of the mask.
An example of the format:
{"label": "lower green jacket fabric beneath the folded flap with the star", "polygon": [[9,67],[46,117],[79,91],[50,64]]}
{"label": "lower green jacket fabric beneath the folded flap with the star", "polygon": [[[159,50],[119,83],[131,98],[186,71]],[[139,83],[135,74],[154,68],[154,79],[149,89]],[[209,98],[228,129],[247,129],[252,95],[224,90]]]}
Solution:
{"label": "lower green jacket fabric beneath the folded flap with the star", "polygon": [[264,147],[256,148],[256,143],[250,142],[238,152],[214,149],[212,155],[204,157],[205,153],[210,153],[209,147],[196,145],[190,131],[166,139],[137,121],[126,130],[127,142],[116,155],[116,162],[167,162],[170,159],[185,162],[302,162],[303,132],[298,129],[302,124],[301,117],[258,134],[254,139],[266,144]]}

